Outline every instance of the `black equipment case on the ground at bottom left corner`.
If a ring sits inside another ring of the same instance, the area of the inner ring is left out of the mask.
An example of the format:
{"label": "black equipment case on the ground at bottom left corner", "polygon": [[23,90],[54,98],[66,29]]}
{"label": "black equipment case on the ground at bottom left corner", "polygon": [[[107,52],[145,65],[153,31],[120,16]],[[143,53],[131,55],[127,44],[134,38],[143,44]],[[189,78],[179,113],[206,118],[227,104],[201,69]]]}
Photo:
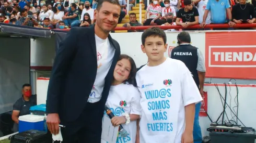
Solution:
{"label": "black equipment case on the ground at bottom left corner", "polygon": [[51,133],[29,130],[9,137],[10,143],[52,143]]}

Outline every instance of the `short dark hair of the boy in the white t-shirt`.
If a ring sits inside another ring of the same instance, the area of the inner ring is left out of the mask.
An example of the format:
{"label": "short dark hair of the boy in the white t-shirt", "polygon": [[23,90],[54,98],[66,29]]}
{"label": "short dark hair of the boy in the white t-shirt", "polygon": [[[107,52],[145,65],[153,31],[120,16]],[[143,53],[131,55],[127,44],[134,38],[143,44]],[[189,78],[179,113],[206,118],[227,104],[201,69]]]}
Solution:
{"label": "short dark hair of the boy in the white t-shirt", "polygon": [[154,37],[159,36],[164,41],[164,44],[166,44],[166,34],[165,34],[164,30],[162,30],[158,27],[152,27],[152,28],[145,30],[142,33],[142,45],[143,46],[145,45],[146,38],[150,37],[150,36],[154,36]]}

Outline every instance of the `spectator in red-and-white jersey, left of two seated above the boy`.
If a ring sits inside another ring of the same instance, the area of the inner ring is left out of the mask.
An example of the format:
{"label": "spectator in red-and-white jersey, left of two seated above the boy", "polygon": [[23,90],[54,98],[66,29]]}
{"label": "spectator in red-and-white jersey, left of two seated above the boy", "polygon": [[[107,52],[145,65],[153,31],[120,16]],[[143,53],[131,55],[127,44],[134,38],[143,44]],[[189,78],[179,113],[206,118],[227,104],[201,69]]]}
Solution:
{"label": "spectator in red-and-white jersey, left of two seated above the boy", "polygon": [[[147,18],[147,14],[149,14],[149,18]],[[157,0],[153,0],[153,4],[148,5],[147,10],[145,12],[145,19],[143,25],[152,25],[156,23],[157,25],[161,25],[162,21],[161,17],[161,6],[158,5]]]}

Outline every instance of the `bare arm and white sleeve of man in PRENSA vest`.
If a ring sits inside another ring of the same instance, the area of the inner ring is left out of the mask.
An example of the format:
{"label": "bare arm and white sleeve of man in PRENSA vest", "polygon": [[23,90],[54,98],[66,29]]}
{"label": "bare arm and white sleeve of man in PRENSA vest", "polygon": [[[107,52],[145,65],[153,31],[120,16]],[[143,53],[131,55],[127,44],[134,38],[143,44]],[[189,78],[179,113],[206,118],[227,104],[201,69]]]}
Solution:
{"label": "bare arm and white sleeve of man in PRENSA vest", "polygon": [[198,48],[197,48],[197,57],[198,57],[198,61],[197,61],[196,70],[199,77],[200,89],[203,90],[206,68],[205,68],[204,56],[201,50]]}

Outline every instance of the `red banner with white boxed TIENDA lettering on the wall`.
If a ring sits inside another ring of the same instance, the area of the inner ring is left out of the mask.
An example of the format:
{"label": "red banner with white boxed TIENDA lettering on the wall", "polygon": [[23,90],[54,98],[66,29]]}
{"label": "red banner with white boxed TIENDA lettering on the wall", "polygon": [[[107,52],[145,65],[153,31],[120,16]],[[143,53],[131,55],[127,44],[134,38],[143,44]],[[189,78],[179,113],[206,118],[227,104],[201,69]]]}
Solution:
{"label": "red banner with white boxed TIENDA lettering on the wall", "polygon": [[256,79],[256,32],[206,32],[206,77]]}

